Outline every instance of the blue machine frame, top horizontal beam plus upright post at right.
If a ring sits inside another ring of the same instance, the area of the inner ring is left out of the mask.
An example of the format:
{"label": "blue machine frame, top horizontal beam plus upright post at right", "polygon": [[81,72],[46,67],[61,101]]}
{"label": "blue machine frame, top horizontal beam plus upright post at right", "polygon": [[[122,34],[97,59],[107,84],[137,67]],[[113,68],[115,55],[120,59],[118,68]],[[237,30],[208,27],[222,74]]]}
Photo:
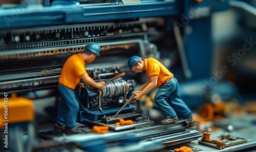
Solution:
{"label": "blue machine frame, top horizontal beam plus upright post at right", "polygon": [[[188,77],[192,80],[210,76],[211,14],[228,8],[227,1],[218,0],[200,3],[192,0],[140,1],[135,4],[124,4],[120,1],[119,3],[83,5],[79,5],[76,1],[53,1],[50,6],[47,6],[48,1],[44,1],[46,6],[33,5],[32,1],[25,2],[19,4],[17,8],[0,8],[1,33],[30,27],[122,22],[140,17],[172,19],[174,25],[182,32],[184,51],[187,56],[186,65],[191,72]],[[6,51],[8,50],[1,50],[0,55]]]}

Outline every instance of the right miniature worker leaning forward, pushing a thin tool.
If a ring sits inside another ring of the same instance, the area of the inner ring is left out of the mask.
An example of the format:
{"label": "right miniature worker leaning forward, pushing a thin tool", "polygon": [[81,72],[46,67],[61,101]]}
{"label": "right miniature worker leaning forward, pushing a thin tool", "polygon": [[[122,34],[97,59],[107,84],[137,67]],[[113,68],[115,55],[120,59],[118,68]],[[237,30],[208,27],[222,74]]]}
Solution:
{"label": "right miniature worker leaning forward, pushing a thin tool", "polygon": [[138,56],[133,56],[128,60],[128,66],[135,72],[145,70],[148,78],[147,82],[135,91],[135,99],[139,100],[156,86],[159,88],[155,95],[155,103],[164,114],[165,119],[161,120],[161,124],[178,121],[177,113],[182,118],[193,121],[190,109],[179,95],[177,79],[162,63],[154,58],[142,60]]}

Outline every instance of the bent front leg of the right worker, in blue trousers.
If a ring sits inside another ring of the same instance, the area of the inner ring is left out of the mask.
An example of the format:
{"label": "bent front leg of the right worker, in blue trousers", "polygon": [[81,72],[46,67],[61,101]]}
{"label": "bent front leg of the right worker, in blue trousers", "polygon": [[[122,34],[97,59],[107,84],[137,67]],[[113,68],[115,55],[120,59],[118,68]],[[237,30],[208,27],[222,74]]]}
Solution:
{"label": "bent front leg of the right worker, in blue trousers", "polygon": [[164,113],[165,118],[174,118],[177,116],[176,112],[167,103],[168,96],[176,89],[175,83],[164,84],[157,92],[155,96],[155,103],[158,108]]}

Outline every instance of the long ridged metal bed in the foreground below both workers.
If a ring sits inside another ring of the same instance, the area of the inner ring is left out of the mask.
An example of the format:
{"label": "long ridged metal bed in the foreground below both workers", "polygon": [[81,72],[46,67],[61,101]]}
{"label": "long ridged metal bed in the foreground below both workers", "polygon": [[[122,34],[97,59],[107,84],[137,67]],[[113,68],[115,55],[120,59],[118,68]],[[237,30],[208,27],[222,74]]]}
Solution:
{"label": "long ridged metal bed in the foreground below both workers", "polygon": [[[94,133],[87,125],[81,126],[85,131],[84,133],[75,135],[53,130],[41,131],[40,134],[43,134],[45,138],[33,148],[33,151],[50,150],[56,146],[70,149],[82,148],[86,151],[92,151],[92,149],[119,151],[120,149],[117,150],[116,146],[123,144],[122,151],[131,151],[132,147],[152,151],[159,150],[165,146],[187,143],[201,137],[199,131],[188,129],[186,120],[166,125],[152,124],[151,122],[153,123],[153,121],[150,121],[148,122],[149,125],[142,126],[135,124],[135,129],[132,130],[126,129],[120,132],[110,130],[105,134]],[[49,138],[46,138],[47,136]]]}

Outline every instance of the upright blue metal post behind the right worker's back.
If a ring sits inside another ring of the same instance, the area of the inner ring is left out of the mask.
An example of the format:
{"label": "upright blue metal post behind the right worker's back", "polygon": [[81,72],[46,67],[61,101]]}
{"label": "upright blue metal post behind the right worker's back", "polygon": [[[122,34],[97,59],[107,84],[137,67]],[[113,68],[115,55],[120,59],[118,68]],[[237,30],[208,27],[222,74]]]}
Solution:
{"label": "upright blue metal post behind the right worker's back", "polygon": [[214,59],[211,17],[190,20],[184,40],[191,80],[210,78]]}

